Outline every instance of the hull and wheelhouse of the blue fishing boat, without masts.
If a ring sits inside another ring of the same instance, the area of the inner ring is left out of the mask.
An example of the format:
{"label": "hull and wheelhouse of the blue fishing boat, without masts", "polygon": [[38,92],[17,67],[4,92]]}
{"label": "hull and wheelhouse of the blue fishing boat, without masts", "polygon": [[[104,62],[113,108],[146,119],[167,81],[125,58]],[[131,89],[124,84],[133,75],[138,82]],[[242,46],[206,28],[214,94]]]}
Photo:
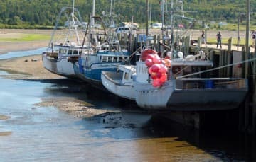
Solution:
{"label": "hull and wheelhouse of the blue fishing boat, without masts", "polygon": [[121,50],[118,40],[101,45],[95,52],[84,51],[73,65],[75,74],[96,87],[102,87],[102,71],[117,71],[117,66],[124,64],[130,55],[127,50]]}

